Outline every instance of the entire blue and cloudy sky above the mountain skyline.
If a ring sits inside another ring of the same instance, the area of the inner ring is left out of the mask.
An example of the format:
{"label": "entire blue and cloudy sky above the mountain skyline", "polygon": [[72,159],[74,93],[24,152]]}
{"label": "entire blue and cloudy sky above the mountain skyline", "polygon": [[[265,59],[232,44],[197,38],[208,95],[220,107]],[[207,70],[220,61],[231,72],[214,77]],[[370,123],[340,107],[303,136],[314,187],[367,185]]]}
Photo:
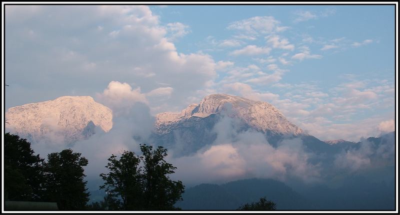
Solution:
{"label": "entire blue and cloudy sky above the mountain skyline", "polygon": [[70,95],[155,115],[227,93],[358,141],[394,130],[394,9],[6,5],[5,109]]}

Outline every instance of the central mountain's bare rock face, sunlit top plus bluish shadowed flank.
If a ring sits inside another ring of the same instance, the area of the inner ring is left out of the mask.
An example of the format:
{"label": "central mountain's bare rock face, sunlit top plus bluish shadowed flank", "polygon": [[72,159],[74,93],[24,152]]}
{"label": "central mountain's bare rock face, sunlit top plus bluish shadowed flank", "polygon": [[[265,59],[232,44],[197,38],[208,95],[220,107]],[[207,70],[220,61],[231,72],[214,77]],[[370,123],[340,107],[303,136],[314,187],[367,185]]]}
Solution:
{"label": "central mountain's bare rock face, sunlit top plus bluish shadowed flank", "polygon": [[283,137],[307,135],[271,104],[239,96],[211,94],[181,112],[157,114],[156,132],[151,141],[173,148],[178,156],[188,155],[216,139],[213,127],[226,116],[236,119],[238,132],[248,129],[262,132],[272,145]]}

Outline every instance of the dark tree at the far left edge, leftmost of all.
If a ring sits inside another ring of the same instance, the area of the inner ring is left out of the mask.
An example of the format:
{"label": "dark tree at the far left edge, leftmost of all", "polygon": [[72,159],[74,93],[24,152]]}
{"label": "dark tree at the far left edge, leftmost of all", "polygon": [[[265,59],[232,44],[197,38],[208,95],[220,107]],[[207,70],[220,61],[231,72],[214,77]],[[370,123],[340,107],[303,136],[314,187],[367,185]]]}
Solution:
{"label": "dark tree at the far left edge, leftmost of all", "polygon": [[4,135],[4,190],[8,200],[40,199],[42,163],[30,143],[17,135]]}

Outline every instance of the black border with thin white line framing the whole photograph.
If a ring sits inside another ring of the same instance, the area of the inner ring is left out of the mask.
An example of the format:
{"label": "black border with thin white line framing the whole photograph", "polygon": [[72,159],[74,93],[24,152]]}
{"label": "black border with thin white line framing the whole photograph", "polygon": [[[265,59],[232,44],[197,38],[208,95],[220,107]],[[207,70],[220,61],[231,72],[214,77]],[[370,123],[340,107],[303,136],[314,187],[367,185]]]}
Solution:
{"label": "black border with thin white line framing the whole photograph", "polygon": [[[396,32],[398,32],[398,19],[395,16],[396,16],[396,11],[399,10],[399,1],[393,1],[393,0],[391,0],[391,1],[393,3],[370,3],[370,4],[363,3],[364,1],[356,1],[356,2],[360,2],[360,3],[348,3],[348,4],[346,4],[346,3],[334,3],[334,2],[333,3],[330,3],[330,2],[329,3],[287,3],[287,4],[285,4],[285,3],[280,3],[280,4],[279,3],[277,3],[277,4],[273,4],[273,3],[253,3],[253,4],[251,4],[251,3],[247,3],[247,4],[246,3],[238,3],[238,4],[232,4],[232,3],[229,3],[229,1],[223,1],[223,2],[226,2],[226,3],[215,3],[215,4],[212,4],[211,1],[205,1],[204,4],[202,4],[202,3],[193,3],[193,4],[191,4],[191,3],[165,3],[165,4],[162,4],[162,3],[148,3],[148,4],[142,4],[142,3],[70,3],[70,4],[68,4],[68,3],[20,3],[20,4],[18,4],[18,3],[4,3],[3,4],[3,11],[4,12],[3,12],[3,17],[2,17],[2,19],[3,19],[3,21],[2,21],[3,22],[3,29],[2,30],[3,30],[3,43],[4,43],[4,47],[3,47],[4,54],[3,54],[3,64],[2,64],[2,69],[4,71],[4,74],[3,74],[4,79],[2,80],[2,82],[4,83],[4,85],[3,85],[3,101],[2,101],[3,102],[3,108],[4,108],[4,111],[5,111],[5,6],[6,5],[171,5],[171,6],[173,6],[173,5],[177,5],[177,6],[179,6],[179,5],[188,5],[188,6],[190,6],[190,5],[203,5],[203,6],[213,6],[213,5],[225,5],[225,6],[228,6],[228,5],[231,5],[231,6],[235,6],[235,5],[248,5],[248,6],[251,6],[251,5],[280,5],[280,6],[284,6],[284,5],[312,5],[312,6],[313,5],[342,5],[342,6],[346,6],[346,5],[357,5],[357,6],[359,6],[359,5],[364,5],[364,6],[368,6],[368,5],[393,5],[394,6],[394,90],[395,90],[396,82],[397,82],[396,72],[398,72],[396,70],[397,69],[396,68],[396,59],[398,59],[397,52],[396,52],[396,47],[399,48],[398,44],[397,44],[397,41],[396,41]],[[105,1],[105,2],[109,2],[109,1]],[[341,1],[335,1],[335,2],[346,2],[346,1],[341,0]],[[388,2],[390,2],[390,1],[388,1]],[[397,2],[397,7],[396,7],[396,4],[394,2]],[[398,67],[398,65],[397,65],[397,67]],[[396,103],[398,102],[398,98],[397,97],[398,97],[398,91],[395,91],[394,92],[394,141],[396,141],[396,135],[398,137],[398,132],[397,132],[398,126],[397,126],[397,123],[396,123],[397,119],[398,119],[397,118],[398,116],[397,116],[397,113],[396,113]],[[5,112],[2,113],[2,116],[4,117],[4,120],[5,120]],[[5,129],[5,121],[2,122],[2,125],[3,125],[3,128]],[[400,147],[397,148],[397,150],[396,150],[396,147],[397,147],[397,144],[396,144],[396,142],[394,142],[394,152],[396,153],[395,157],[400,154],[400,150],[399,150]],[[0,152],[1,151],[2,151],[2,148],[0,148]],[[2,159],[3,158],[1,158],[1,160],[0,160],[1,169],[2,169]],[[394,160],[394,162],[395,162],[395,160]],[[396,165],[398,165],[398,163],[394,164],[394,167],[395,167],[394,168],[394,181],[396,181],[396,169],[397,169]],[[399,170],[397,169],[397,171],[399,171]],[[396,190],[399,192],[398,182],[400,182],[400,177],[397,180],[397,189],[394,190],[394,197],[395,198],[397,197],[397,204],[398,204],[397,206],[400,207],[399,195],[397,195],[397,196],[395,195]],[[0,187],[0,190],[1,190],[1,187]],[[398,194],[400,194],[400,192]],[[0,195],[0,200],[2,201],[1,198],[2,198],[2,195]],[[2,213],[3,209],[1,207],[1,204],[0,204],[0,209],[1,209],[1,211],[0,211],[1,214],[15,214],[15,213],[7,213],[7,212],[14,212],[12,210],[4,211],[4,213]],[[397,208],[397,210],[398,210],[398,208]],[[103,212],[103,213],[98,213],[98,214],[126,215],[126,214],[129,214],[129,213],[126,213],[126,212],[132,212],[132,214],[140,214],[140,212],[147,212],[147,211],[124,211],[125,213],[120,213],[120,211],[110,211],[110,212],[115,212],[115,213],[107,213],[108,211],[64,211],[65,213],[63,213],[62,211],[29,211],[29,212],[33,212],[33,213],[23,213],[24,211],[18,211],[18,212],[22,212],[22,213],[18,213],[18,214],[24,214],[24,215],[39,214],[38,212],[61,212],[61,213],[56,213],[56,214],[61,214],[61,215],[75,214],[75,213],[68,213],[68,212],[81,212],[82,214],[95,214],[95,212]],[[173,213],[174,211],[151,211],[151,212],[154,212],[154,213],[146,213],[146,214],[149,214],[149,215],[174,214]],[[156,212],[159,212],[159,213],[156,213]],[[181,213],[175,213],[175,214],[184,214],[184,212],[217,212],[217,214],[231,214],[229,212],[237,212],[237,211],[236,210],[224,210],[224,211],[222,211],[222,210],[201,210],[201,211],[198,211],[198,210],[182,210],[182,211],[176,211],[176,212],[181,212]],[[264,211],[258,211],[258,212],[257,211],[251,211],[251,212],[255,212],[254,214],[276,214],[276,213],[273,213],[274,211],[271,211],[269,213],[268,212],[261,213],[261,212],[264,212]],[[322,213],[323,212],[356,212],[356,213],[351,213],[351,214],[362,214],[362,215],[365,215],[365,214],[387,214],[387,215],[400,214],[400,211],[397,211],[397,213],[393,213],[393,212],[396,212],[396,199],[394,200],[394,210],[275,210],[275,212],[322,212]],[[392,212],[392,213],[365,213],[365,212]],[[48,214],[50,214],[50,213],[48,213]],[[188,213],[188,214],[203,215],[205,213]],[[244,215],[244,214],[250,214],[250,213],[243,212],[243,213],[234,213],[234,214]],[[305,213],[279,213],[279,214],[303,215]],[[323,214],[333,215],[333,214],[338,214],[338,213],[323,213]]]}

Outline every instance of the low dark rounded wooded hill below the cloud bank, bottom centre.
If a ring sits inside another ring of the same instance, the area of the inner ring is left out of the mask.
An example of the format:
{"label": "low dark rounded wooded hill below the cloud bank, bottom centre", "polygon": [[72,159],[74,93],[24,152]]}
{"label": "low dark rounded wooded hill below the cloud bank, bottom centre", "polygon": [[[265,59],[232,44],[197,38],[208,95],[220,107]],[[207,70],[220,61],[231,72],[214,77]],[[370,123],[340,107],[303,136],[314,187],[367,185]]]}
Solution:
{"label": "low dark rounded wooded hill below the cloud bank, bottom centre", "polygon": [[201,184],[188,188],[183,201],[176,204],[182,210],[236,210],[246,203],[266,197],[277,210],[305,210],[311,204],[284,183],[272,179],[245,179],[222,185]]}

